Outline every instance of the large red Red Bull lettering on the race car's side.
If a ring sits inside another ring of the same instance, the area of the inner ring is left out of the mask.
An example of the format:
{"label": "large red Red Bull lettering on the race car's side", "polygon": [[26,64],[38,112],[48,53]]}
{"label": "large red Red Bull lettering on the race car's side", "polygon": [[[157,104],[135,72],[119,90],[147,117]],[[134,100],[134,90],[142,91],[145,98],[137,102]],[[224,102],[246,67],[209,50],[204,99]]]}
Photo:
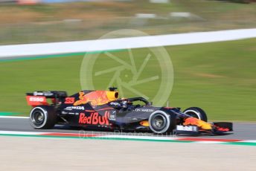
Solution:
{"label": "large red Red Bull lettering on the race car's side", "polygon": [[86,116],[85,113],[80,113],[78,123],[109,126],[109,111],[106,111],[103,116],[97,112],[92,112],[89,116]]}

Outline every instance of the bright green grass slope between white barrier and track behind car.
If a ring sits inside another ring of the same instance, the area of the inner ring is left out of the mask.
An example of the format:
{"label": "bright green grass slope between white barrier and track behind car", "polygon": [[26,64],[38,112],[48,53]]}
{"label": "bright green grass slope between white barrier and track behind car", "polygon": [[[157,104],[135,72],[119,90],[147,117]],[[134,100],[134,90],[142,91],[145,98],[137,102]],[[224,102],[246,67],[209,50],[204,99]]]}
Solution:
{"label": "bright green grass slope between white barrier and track behind car", "polygon": [[[214,42],[165,47],[174,68],[170,106],[185,109],[199,106],[210,120],[256,121],[256,39]],[[127,51],[111,54],[128,62]],[[147,48],[133,49],[136,67],[149,53]],[[80,91],[80,65],[83,55],[36,60],[0,62],[0,112],[28,114],[30,107],[25,93],[36,90]],[[160,62],[161,63],[161,62]],[[98,54],[92,71],[102,71],[118,65],[105,54]],[[123,82],[129,82],[131,71],[121,72]],[[161,75],[159,62],[153,55],[139,79]],[[106,88],[112,74],[94,76],[95,88]],[[159,80],[136,88],[154,97]],[[114,83],[118,86],[117,83]],[[123,90],[125,91],[125,90]],[[134,96],[131,92],[125,97]]]}

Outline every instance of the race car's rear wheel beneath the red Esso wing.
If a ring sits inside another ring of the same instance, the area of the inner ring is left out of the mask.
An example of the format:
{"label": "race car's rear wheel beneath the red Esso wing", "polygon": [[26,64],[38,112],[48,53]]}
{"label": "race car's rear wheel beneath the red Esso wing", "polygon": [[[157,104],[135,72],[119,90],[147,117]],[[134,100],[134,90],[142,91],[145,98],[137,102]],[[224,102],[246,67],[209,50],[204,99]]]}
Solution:
{"label": "race car's rear wheel beneath the red Esso wing", "polygon": [[36,106],[31,109],[30,123],[34,129],[51,129],[56,123],[56,118],[53,106]]}

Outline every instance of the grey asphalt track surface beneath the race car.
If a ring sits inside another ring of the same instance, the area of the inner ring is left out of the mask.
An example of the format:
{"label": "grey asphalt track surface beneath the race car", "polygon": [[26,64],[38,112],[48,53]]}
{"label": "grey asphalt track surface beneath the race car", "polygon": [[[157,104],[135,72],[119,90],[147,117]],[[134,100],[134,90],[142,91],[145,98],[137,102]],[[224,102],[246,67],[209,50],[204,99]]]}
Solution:
{"label": "grey asphalt track surface beneath the race car", "polygon": [[[223,139],[241,139],[256,140],[256,123],[234,123],[234,132],[226,135],[201,135],[203,138],[223,138]],[[113,134],[115,135],[147,135],[154,136],[150,132],[102,132],[85,129],[71,129],[68,126],[54,126],[54,129],[33,129],[28,118],[0,118],[1,131],[19,131],[19,132],[62,132],[62,133],[94,133],[94,134]],[[185,135],[164,135],[184,137]],[[188,136],[185,136],[188,137]]]}

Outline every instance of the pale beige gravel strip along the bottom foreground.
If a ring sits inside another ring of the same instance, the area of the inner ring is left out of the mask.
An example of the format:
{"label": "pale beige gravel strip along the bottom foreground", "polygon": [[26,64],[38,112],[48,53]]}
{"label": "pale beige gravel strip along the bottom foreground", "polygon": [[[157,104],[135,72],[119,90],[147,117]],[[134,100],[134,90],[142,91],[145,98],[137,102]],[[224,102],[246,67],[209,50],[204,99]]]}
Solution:
{"label": "pale beige gravel strip along the bottom foreground", "polygon": [[255,146],[0,136],[0,170],[255,170]]}

